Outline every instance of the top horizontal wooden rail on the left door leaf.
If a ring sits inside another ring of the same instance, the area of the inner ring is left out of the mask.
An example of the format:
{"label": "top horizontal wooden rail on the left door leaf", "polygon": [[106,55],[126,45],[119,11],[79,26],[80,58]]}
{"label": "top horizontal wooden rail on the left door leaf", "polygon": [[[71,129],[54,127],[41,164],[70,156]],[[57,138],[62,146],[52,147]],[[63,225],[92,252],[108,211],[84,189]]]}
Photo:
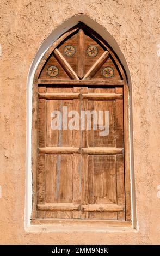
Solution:
{"label": "top horizontal wooden rail on the left door leaf", "polygon": [[72,99],[79,99],[79,93],[39,93],[40,99],[47,99],[47,100],[72,100]]}

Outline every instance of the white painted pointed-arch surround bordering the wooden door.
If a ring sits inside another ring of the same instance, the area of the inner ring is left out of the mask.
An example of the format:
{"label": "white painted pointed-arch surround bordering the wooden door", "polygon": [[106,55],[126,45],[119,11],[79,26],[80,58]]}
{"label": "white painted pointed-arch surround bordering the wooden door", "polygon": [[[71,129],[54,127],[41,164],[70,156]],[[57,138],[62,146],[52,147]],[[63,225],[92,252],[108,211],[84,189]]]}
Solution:
{"label": "white painted pointed-arch surround bordering the wooden door", "polygon": [[[30,66],[27,78],[27,134],[26,134],[26,197],[25,197],[25,210],[24,210],[24,228],[30,231],[30,217],[32,214],[32,96],[33,96],[33,78],[40,63],[42,56],[48,48],[56,41],[62,34],[68,31],[78,22],[83,22],[88,27],[96,31],[108,44],[113,48],[117,54],[121,64],[124,66],[127,75],[127,82],[129,86],[129,126],[130,126],[130,172],[131,172],[131,202],[132,202],[132,220],[133,227],[138,227],[136,218],[136,200],[135,200],[135,185],[134,185],[134,159],[133,159],[133,129],[132,129],[132,87],[131,75],[124,54],[121,52],[119,45],[99,23],[84,14],[78,14],[66,20],[60,26],[53,30],[53,32],[42,43],[35,58]],[[35,231],[35,230],[34,230]],[[53,231],[53,230],[52,230]],[[57,230],[54,230],[57,231]]]}

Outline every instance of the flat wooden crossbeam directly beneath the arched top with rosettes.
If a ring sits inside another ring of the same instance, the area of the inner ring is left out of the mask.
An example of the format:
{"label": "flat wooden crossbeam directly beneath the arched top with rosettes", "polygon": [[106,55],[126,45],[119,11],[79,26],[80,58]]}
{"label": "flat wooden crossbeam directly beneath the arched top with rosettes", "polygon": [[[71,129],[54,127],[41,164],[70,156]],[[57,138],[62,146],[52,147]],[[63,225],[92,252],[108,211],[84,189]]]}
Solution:
{"label": "flat wooden crossbeam directly beneath the arched top with rosettes", "polygon": [[114,80],[114,79],[106,79],[106,80],[99,80],[99,79],[90,79],[90,80],[56,80],[55,78],[49,78],[49,79],[37,79],[35,80],[35,83],[37,84],[45,84],[45,85],[59,85],[64,84],[65,86],[74,86],[74,85],[88,85],[88,86],[122,86],[126,82],[124,80]]}

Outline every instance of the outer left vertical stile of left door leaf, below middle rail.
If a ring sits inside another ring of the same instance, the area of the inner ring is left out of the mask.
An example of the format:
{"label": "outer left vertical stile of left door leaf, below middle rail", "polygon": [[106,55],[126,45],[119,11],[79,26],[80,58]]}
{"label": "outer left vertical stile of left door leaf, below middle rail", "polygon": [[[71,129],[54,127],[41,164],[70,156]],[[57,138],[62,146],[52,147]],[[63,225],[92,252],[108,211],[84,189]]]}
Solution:
{"label": "outer left vertical stile of left door leaf, below middle rail", "polygon": [[[37,172],[37,204],[45,203],[45,154],[38,155],[38,172]],[[37,218],[45,218],[44,211],[37,212]]]}

